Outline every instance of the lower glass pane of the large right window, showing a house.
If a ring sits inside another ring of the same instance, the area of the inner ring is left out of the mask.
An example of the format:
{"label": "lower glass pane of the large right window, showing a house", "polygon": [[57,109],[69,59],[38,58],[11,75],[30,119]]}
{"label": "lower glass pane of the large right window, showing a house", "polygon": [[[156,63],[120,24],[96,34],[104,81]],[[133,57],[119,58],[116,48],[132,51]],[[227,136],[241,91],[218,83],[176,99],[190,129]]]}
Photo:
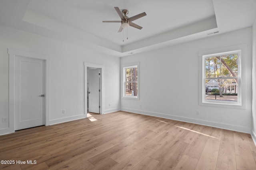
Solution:
{"label": "lower glass pane of the large right window, showing a house", "polygon": [[237,102],[238,84],[236,79],[206,80],[205,87],[206,100]]}

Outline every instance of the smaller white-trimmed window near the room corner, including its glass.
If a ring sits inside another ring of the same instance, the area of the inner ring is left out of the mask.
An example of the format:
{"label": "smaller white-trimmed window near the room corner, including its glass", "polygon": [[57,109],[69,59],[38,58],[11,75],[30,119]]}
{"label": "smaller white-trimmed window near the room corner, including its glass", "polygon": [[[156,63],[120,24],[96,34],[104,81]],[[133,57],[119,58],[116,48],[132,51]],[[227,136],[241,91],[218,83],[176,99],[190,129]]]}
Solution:
{"label": "smaller white-trimmed window near the room corner, including its glass", "polygon": [[124,87],[123,98],[137,99],[138,90],[138,73],[139,63],[125,64],[123,67]]}

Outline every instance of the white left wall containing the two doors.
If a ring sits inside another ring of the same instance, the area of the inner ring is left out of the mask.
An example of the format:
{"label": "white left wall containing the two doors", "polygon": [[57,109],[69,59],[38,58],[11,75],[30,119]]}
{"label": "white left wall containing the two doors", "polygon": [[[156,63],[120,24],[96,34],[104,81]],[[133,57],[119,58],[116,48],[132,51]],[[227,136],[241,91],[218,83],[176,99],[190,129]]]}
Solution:
{"label": "white left wall containing the two doors", "polygon": [[50,56],[50,121],[84,114],[84,62],[104,66],[103,113],[120,110],[120,58],[0,25],[0,129],[8,128],[8,48]]}

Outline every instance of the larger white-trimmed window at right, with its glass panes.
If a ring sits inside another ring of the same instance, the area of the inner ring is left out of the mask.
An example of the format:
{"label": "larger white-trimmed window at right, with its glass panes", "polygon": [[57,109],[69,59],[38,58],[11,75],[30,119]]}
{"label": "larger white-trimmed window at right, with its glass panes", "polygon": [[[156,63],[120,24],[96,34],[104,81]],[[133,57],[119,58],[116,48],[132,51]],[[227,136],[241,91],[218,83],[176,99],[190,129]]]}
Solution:
{"label": "larger white-trimmed window at right, with its glass panes", "polygon": [[200,105],[245,107],[245,49],[238,45],[199,52]]}

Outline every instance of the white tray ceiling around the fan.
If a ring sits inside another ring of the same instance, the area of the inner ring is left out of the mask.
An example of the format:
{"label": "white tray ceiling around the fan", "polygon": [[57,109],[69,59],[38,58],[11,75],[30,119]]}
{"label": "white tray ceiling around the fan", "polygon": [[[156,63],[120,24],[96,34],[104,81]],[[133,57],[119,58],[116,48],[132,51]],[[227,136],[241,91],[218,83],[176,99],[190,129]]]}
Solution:
{"label": "white tray ceiling around the fan", "polygon": [[[128,40],[120,23],[102,23],[120,20],[114,6],[129,17],[147,14],[133,21],[141,30],[128,27]],[[256,0],[0,0],[1,25],[119,57],[250,27],[255,19]]]}

